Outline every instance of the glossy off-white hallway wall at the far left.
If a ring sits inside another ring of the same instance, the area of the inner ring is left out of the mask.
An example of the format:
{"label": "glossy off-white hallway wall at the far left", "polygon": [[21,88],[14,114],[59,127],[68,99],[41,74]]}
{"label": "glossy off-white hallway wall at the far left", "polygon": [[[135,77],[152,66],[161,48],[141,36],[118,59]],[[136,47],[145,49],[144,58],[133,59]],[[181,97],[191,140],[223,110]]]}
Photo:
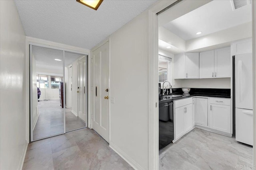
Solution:
{"label": "glossy off-white hallway wall at the far left", "polygon": [[12,0],[0,1],[0,35],[0,169],[17,170],[27,146],[26,35]]}

